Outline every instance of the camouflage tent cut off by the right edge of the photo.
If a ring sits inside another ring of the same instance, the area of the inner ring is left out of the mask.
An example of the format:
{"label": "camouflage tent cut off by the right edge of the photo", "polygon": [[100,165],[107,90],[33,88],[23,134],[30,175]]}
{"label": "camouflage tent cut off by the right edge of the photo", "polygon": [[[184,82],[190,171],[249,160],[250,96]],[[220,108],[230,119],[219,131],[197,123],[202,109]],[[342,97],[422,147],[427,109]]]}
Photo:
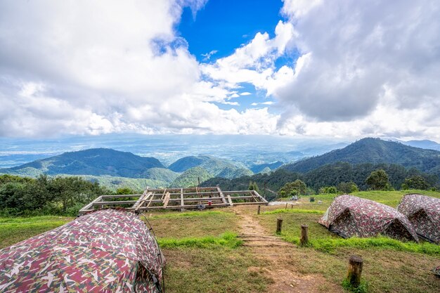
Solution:
{"label": "camouflage tent cut off by the right edge of the photo", "polygon": [[432,242],[440,242],[440,199],[426,195],[405,195],[397,210],[408,217],[415,232]]}

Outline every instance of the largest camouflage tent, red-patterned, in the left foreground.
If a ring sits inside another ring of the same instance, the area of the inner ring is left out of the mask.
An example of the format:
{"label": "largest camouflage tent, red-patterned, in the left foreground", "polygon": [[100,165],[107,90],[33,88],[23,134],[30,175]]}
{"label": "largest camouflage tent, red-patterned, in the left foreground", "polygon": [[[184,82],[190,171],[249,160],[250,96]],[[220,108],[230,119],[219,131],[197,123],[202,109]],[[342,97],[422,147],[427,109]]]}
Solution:
{"label": "largest camouflage tent, red-patterned, in the left foreground", "polygon": [[162,292],[162,254],[130,211],[105,209],[0,250],[0,292]]}

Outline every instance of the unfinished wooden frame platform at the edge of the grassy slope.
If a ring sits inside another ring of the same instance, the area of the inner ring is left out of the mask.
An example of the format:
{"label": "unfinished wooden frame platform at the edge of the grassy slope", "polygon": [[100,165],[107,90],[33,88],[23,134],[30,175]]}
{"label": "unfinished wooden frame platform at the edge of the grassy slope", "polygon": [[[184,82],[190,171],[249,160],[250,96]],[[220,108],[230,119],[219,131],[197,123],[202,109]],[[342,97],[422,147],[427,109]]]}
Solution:
{"label": "unfinished wooden frame platform at the edge of the grassy slope", "polygon": [[157,209],[205,209],[212,207],[233,207],[239,204],[264,204],[267,200],[255,190],[222,191],[217,187],[195,188],[147,188],[139,195],[101,195],[96,197],[79,214],[95,209],[124,207],[134,211]]}

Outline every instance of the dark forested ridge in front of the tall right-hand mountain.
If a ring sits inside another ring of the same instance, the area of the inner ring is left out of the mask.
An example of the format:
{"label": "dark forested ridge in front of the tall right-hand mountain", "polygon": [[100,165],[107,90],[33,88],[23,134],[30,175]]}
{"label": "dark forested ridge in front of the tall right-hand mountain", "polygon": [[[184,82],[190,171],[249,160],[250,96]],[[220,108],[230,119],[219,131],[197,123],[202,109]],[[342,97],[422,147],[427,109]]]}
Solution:
{"label": "dark forested ridge in front of the tall right-hand mountain", "polygon": [[[439,178],[434,174],[426,174],[418,169],[405,167],[398,164],[349,164],[338,162],[327,164],[323,167],[313,169],[304,174],[277,169],[271,174],[256,174],[254,176],[243,176],[228,180],[225,178],[212,178],[202,183],[203,186],[212,186],[219,184],[223,190],[237,190],[246,188],[250,182],[257,183],[262,194],[266,195],[268,200],[272,200],[280,194],[278,193],[286,183],[300,180],[306,184],[306,193],[320,193],[325,188],[334,187],[336,190],[351,190],[356,185],[358,190],[368,190],[367,178],[373,171],[382,169],[388,176],[387,188],[400,190],[402,187],[409,187],[408,184],[414,182],[410,178],[422,178],[425,188],[438,188]],[[419,180],[420,181],[420,180]],[[266,190],[264,190],[266,187]],[[422,188],[424,189],[424,188]],[[331,189],[333,190],[333,189]]]}

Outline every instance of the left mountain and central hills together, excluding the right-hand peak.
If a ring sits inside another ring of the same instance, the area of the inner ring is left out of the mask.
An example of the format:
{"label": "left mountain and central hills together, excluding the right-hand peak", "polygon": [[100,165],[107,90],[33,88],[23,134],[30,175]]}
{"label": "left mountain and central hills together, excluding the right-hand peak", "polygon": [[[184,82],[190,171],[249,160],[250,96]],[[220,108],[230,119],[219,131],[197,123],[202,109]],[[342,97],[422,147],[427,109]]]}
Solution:
{"label": "left mountain and central hills together, excluding the right-hand peak", "polygon": [[[209,156],[189,156],[178,159],[168,168],[154,157],[141,157],[131,152],[108,148],[94,148],[37,159],[18,167],[0,169],[0,174],[14,174],[36,177],[82,175],[110,187],[129,182],[131,186],[149,185],[167,187],[170,185],[198,184],[213,177],[235,178],[254,174],[240,163]],[[176,181],[176,182],[174,182]]]}

